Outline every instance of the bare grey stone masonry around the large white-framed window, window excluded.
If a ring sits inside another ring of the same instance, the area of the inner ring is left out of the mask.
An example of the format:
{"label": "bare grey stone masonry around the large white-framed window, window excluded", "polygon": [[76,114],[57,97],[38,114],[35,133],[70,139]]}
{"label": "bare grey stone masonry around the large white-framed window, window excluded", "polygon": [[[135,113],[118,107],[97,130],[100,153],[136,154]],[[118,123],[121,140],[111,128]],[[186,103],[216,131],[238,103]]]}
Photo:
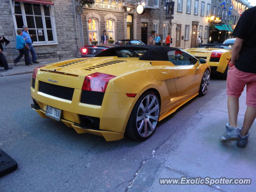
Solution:
{"label": "bare grey stone masonry around the large white-framed window, window excluded", "polygon": [[[12,62],[18,56],[18,51],[15,48],[16,32],[10,0],[1,0],[0,13],[0,35],[4,35],[11,41],[8,46],[4,46],[4,55],[8,62]],[[58,44],[34,46],[36,53],[57,52],[63,58],[76,57],[77,46],[72,0],[54,0],[54,16]]]}

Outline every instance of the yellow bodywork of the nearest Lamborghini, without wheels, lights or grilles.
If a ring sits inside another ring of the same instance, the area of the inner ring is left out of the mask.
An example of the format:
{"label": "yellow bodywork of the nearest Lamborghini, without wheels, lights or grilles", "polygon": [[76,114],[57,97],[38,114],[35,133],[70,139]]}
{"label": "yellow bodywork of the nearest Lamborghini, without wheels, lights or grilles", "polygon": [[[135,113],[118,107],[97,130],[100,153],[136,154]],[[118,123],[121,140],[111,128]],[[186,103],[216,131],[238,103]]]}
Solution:
{"label": "yellow bodywork of the nearest Lamborghini, without wheels, lights or grilles", "polygon": [[[150,61],[117,57],[57,62],[38,68],[34,87],[31,86],[31,96],[38,107],[32,108],[43,118],[47,117],[47,105],[61,109],[60,121],[76,132],[100,135],[107,141],[119,140],[124,137],[134,105],[145,91],[151,89],[159,94],[159,120],[162,120],[198,94],[206,69],[210,69],[207,63],[197,68],[175,66],[171,62],[163,62],[163,65],[157,62],[152,66]],[[101,106],[80,102],[84,78],[95,72],[116,76],[108,82]],[[39,82],[74,88],[72,100],[40,92]],[[128,97],[126,93],[136,96]],[[79,115],[99,118],[99,128],[82,127]]]}

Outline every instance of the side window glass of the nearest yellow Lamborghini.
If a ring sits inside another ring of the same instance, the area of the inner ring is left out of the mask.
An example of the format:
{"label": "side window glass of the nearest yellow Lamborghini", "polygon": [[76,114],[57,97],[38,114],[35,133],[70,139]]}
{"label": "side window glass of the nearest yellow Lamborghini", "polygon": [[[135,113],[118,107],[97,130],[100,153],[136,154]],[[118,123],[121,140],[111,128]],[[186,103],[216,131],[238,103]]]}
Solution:
{"label": "side window glass of the nearest yellow Lamborghini", "polygon": [[168,59],[174,65],[193,65],[194,64],[194,61],[189,54],[179,50],[169,51]]}

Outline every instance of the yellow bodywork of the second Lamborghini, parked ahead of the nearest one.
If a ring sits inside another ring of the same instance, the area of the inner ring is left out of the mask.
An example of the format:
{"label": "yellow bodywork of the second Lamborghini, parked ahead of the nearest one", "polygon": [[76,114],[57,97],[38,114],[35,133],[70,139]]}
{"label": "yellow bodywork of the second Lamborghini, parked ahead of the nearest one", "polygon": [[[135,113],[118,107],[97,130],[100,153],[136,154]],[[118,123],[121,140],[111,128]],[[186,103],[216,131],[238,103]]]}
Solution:
{"label": "yellow bodywork of the second Lamborghini, parked ahead of the nearest one", "polygon": [[[184,49],[184,51],[192,54],[196,58],[206,57],[206,60],[208,61],[208,64],[210,66],[217,67],[216,71],[220,73],[224,73],[227,66],[228,62],[231,59],[231,50],[228,49],[220,49],[220,48],[189,48],[189,49]],[[222,55],[220,57],[219,62],[210,62],[210,57],[212,52],[222,52]]]}

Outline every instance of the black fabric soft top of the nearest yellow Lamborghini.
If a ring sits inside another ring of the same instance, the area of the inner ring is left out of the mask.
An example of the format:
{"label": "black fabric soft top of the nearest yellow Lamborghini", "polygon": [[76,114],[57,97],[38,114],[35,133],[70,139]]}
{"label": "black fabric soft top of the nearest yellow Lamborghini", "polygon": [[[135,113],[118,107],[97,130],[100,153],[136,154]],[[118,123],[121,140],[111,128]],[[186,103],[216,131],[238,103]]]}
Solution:
{"label": "black fabric soft top of the nearest yellow Lamborghini", "polygon": [[126,45],[108,48],[105,51],[100,52],[95,57],[108,57],[108,56],[117,56],[116,50],[147,50],[144,55],[140,57],[140,60],[147,61],[168,61],[168,51],[178,50],[178,48],[173,47],[164,47],[164,46],[155,46],[155,45]]}

